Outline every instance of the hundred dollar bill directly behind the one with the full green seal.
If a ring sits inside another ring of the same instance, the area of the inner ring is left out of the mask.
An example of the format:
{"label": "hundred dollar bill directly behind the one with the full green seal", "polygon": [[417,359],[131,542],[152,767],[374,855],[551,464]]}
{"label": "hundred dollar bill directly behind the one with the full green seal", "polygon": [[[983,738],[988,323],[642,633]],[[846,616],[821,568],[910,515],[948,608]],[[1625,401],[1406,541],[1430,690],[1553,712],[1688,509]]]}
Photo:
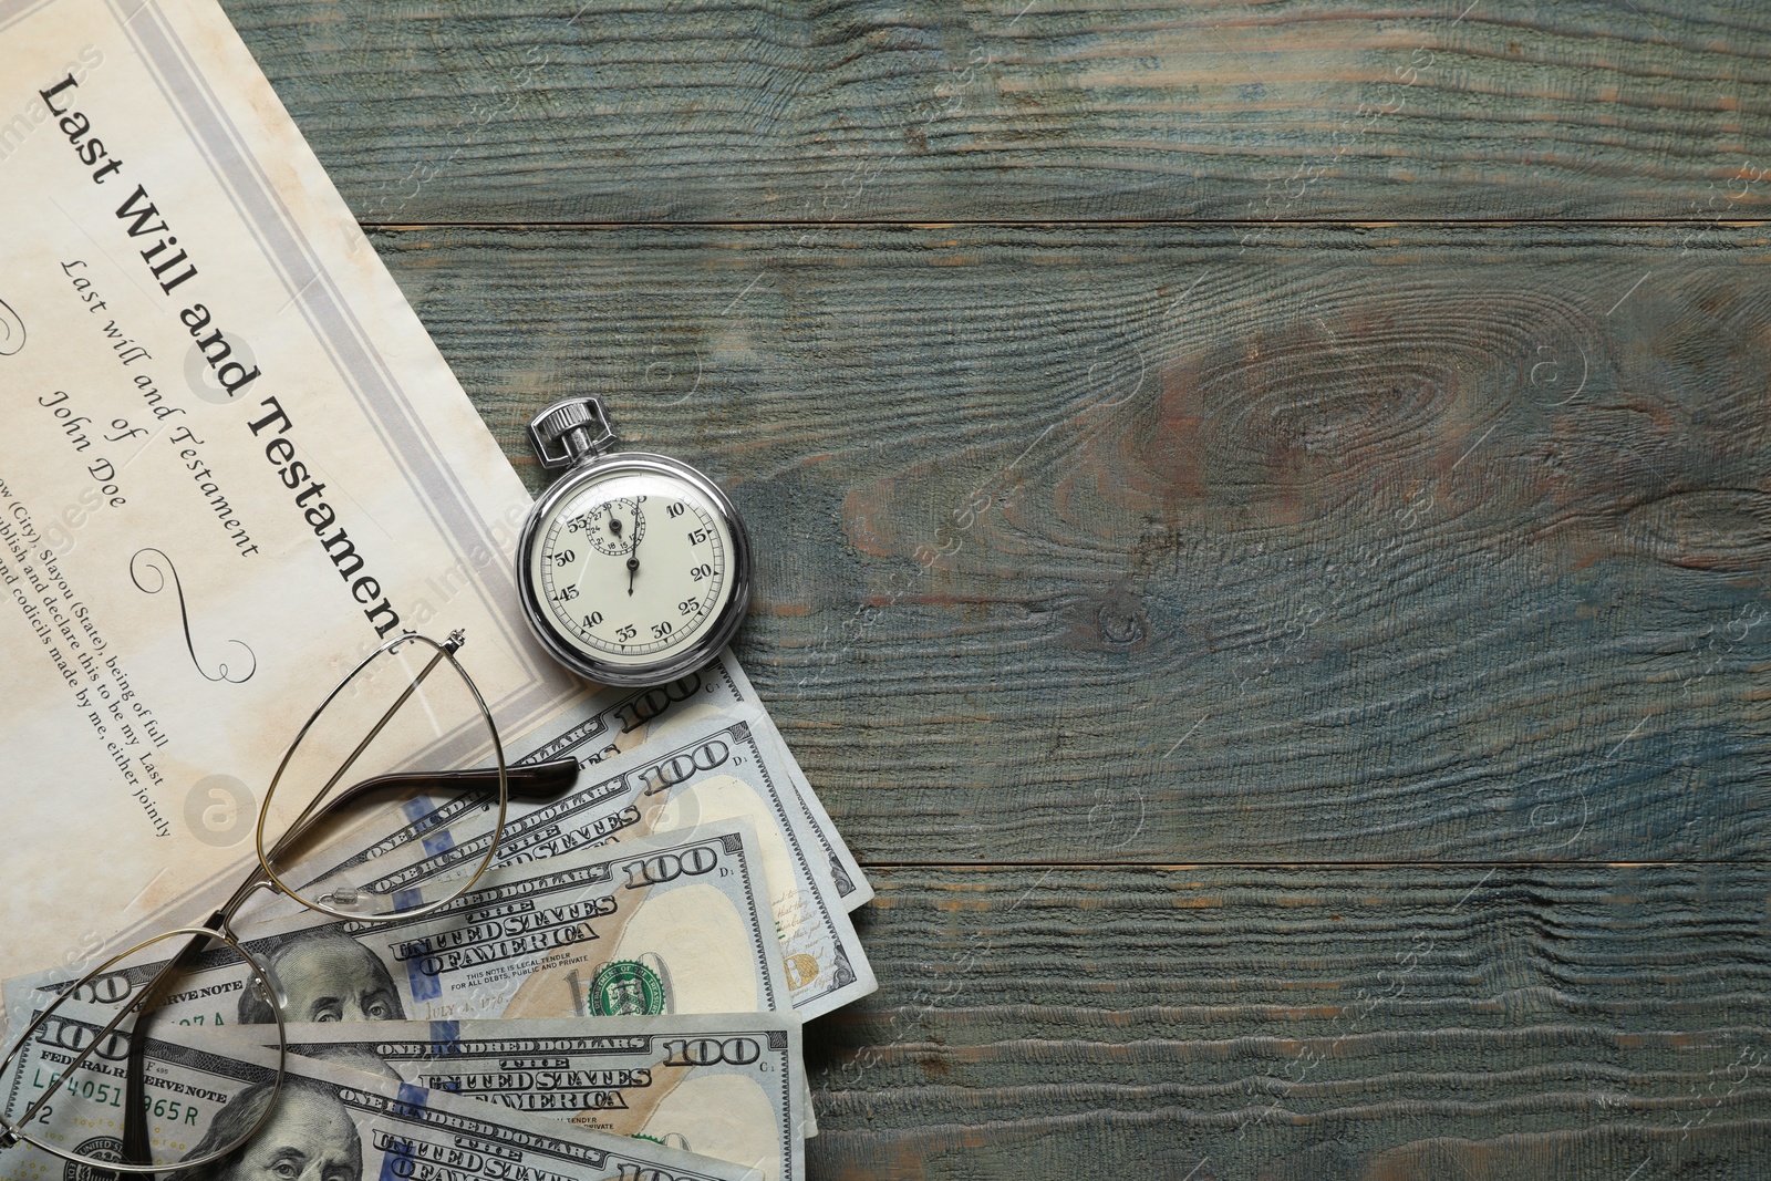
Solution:
{"label": "hundred dollar bill directly behind the one with the full green seal", "polygon": [[[746,706],[671,726],[641,749],[581,774],[560,800],[512,802],[492,864],[514,866],[746,816],[760,839],[788,993],[800,1018],[811,1020],[878,984],[848,912],[818,871],[818,852],[760,719],[756,706]],[[485,857],[494,823],[491,814],[464,807],[448,800],[429,813],[407,813],[404,829],[338,857],[315,882],[349,869],[354,885],[393,894],[468,871]],[[434,839],[436,832],[446,836]],[[365,876],[365,866],[372,876]]]}

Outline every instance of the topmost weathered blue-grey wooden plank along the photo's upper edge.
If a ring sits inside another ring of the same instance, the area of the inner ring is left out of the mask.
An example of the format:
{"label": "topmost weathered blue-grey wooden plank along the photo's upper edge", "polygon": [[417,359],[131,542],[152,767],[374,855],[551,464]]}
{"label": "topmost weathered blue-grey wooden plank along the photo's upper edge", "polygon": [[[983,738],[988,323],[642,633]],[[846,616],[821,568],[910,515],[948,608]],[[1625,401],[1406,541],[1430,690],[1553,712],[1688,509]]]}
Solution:
{"label": "topmost weathered blue-grey wooden plank along the photo's upper edge", "polygon": [[1771,181],[1753,0],[227,9],[374,223],[1702,221]]}

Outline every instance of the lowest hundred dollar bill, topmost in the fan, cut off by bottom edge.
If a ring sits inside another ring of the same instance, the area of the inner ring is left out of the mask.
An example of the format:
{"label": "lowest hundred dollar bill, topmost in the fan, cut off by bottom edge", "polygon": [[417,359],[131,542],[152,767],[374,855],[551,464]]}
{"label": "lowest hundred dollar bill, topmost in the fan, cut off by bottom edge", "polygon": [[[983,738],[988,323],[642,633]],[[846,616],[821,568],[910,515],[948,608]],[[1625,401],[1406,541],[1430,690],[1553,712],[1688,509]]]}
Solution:
{"label": "lowest hundred dollar bill, topmost in the fan, cut off by bottom edge", "polygon": [[[108,1009],[73,1002],[51,1013],[18,1064],[0,1077],[0,1110],[9,1119],[23,1115],[48,1082],[99,1039],[108,1018]],[[27,1130],[85,1156],[117,1153],[122,1146],[128,1052],[126,1038],[103,1038],[51,1098],[50,1115],[30,1121]],[[289,1057],[282,1091],[273,1100],[275,1052],[244,1039],[216,1039],[213,1030],[156,1022],[145,1039],[143,1066],[149,1140],[156,1163],[165,1162],[168,1170],[179,1160],[207,1156],[234,1142],[266,1110],[266,1103],[275,1103],[266,1123],[241,1149],[182,1174],[188,1181],[278,1176],[322,1181],[756,1177],[756,1169],[749,1165],[413,1085],[367,1055],[335,1062]],[[0,1151],[4,1181],[51,1176],[89,1176],[89,1170],[28,1144]]]}

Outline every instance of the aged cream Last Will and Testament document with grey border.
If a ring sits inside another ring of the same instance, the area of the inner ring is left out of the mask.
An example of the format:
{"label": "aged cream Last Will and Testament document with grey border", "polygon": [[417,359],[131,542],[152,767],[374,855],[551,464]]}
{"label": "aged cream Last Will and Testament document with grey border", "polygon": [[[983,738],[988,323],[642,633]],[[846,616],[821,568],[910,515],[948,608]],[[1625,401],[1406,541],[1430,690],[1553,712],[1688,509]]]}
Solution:
{"label": "aged cream Last Will and Testament document with grey border", "polygon": [[[530,498],[213,0],[0,0],[0,976],[251,855],[356,660],[512,735]],[[193,915],[195,919],[197,915]]]}

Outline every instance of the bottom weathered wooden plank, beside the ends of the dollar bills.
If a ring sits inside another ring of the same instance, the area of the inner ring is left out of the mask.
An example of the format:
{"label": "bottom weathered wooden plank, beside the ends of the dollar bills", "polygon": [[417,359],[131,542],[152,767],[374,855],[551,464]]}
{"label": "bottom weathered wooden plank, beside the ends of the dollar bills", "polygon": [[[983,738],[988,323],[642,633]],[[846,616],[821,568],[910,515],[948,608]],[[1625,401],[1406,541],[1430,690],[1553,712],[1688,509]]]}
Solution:
{"label": "bottom weathered wooden plank, beside the ends of the dollar bills", "polygon": [[880,871],[818,1177],[1762,1177],[1766,866]]}

